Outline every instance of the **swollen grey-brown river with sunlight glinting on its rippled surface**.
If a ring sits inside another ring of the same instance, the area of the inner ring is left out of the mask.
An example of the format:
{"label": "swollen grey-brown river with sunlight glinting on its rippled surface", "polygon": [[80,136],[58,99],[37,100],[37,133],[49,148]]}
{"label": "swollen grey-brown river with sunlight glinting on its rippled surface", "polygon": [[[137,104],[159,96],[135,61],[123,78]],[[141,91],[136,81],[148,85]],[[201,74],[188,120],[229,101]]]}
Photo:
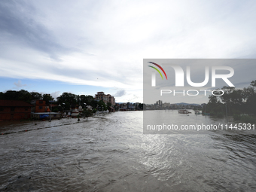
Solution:
{"label": "swollen grey-brown river with sunlight glinting on its rippled surface", "polygon": [[142,111],[123,111],[2,124],[0,190],[256,191],[255,135],[144,135],[142,123]]}

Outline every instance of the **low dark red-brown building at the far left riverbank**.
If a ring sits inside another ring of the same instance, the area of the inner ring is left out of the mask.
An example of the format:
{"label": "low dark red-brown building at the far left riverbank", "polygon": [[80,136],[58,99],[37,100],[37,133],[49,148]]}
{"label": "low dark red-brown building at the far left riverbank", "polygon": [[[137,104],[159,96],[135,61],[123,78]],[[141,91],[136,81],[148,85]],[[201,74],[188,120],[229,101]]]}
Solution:
{"label": "low dark red-brown building at the far left riverbank", "polygon": [[33,105],[16,100],[0,100],[0,120],[29,119]]}

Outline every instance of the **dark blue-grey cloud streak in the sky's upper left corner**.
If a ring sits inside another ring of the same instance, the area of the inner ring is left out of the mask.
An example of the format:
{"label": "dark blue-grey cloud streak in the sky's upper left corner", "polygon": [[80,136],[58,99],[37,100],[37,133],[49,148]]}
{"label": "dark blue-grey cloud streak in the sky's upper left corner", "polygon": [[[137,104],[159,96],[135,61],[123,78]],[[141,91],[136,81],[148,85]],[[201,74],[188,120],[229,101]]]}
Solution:
{"label": "dark blue-grey cloud streak in the sky's upper left corner", "polygon": [[0,4],[0,35],[15,43],[29,46],[48,53],[52,59],[58,60],[59,52],[67,52],[56,38],[34,18],[35,8],[26,2],[3,1]]}

